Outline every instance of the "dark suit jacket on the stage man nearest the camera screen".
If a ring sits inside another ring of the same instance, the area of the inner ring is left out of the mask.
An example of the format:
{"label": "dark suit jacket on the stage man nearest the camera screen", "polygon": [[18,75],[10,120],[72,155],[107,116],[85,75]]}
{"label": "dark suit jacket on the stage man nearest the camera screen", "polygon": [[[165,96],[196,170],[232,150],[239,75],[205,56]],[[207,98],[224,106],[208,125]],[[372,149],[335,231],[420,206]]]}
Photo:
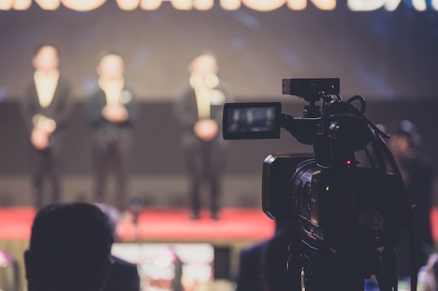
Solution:
{"label": "dark suit jacket on the stage man nearest the camera screen", "polygon": [[[222,114],[223,105],[227,102],[231,102],[229,90],[226,84],[220,83],[216,88],[222,92],[223,98],[219,95],[211,100],[211,119],[215,120],[219,125],[218,138],[216,141],[223,142],[222,137]],[[198,119],[198,109],[196,102],[195,90],[190,87],[189,84],[185,85],[185,89],[182,90],[181,96],[178,96],[178,100],[174,107],[174,113],[176,121],[181,128],[181,139],[183,149],[190,148],[193,144],[199,142],[199,138],[193,132],[193,126],[195,126]]]}

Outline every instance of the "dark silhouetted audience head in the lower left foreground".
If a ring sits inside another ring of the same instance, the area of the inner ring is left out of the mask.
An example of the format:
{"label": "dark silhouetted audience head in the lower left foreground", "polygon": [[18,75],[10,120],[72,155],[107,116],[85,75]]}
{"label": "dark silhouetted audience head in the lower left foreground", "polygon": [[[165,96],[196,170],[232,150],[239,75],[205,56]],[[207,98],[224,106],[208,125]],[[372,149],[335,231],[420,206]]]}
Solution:
{"label": "dark silhouetted audience head in the lower left foreground", "polygon": [[51,204],[38,211],[24,253],[29,291],[97,291],[112,264],[113,227],[99,207]]}

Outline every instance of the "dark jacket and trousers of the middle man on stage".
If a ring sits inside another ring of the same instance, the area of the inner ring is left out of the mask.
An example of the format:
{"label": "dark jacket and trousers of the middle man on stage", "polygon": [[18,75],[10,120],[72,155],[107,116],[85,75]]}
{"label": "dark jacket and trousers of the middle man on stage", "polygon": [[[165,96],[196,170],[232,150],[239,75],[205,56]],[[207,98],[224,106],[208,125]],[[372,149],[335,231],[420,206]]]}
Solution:
{"label": "dark jacket and trousers of the middle man on stage", "polygon": [[124,89],[119,103],[125,106],[128,119],[122,123],[108,121],[101,111],[106,106],[106,94],[97,91],[87,101],[87,117],[92,128],[92,155],[94,168],[94,200],[106,203],[105,180],[110,163],[115,163],[117,181],[117,207],[127,209],[127,172],[131,149],[132,128],[136,120],[136,103],[132,92]]}

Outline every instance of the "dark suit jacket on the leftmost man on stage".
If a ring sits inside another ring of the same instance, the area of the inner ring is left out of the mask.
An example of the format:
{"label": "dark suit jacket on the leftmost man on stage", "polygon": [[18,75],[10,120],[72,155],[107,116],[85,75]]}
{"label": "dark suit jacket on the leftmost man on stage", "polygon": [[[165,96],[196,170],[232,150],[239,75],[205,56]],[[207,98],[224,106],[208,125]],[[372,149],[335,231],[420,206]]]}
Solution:
{"label": "dark suit jacket on the leftmost man on stage", "polygon": [[55,120],[57,126],[55,132],[52,134],[52,137],[55,137],[66,128],[71,117],[73,100],[70,96],[69,84],[67,84],[62,75],[59,75],[59,81],[55,89],[52,103],[50,103],[48,107],[43,108],[39,104],[35,82],[32,80],[25,91],[25,96],[22,98],[21,105],[24,123],[29,130],[29,134],[32,128],[34,128],[34,116],[36,114],[42,114],[45,117]]}

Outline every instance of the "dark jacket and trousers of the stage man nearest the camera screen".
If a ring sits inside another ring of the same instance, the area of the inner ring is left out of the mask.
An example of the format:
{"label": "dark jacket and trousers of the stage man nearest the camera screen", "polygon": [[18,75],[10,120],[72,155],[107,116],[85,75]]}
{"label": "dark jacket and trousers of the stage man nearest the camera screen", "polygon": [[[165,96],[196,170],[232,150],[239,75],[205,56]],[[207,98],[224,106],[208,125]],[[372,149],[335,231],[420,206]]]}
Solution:
{"label": "dark jacket and trousers of the stage man nearest the camera screen", "polygon": [[211,213],[216,216],[219,211],[220,186],[225,165],[225,140],[222,138],[222,111],[223,105],[229,102],[228,90],[219,85],[210,95],[210,119],[219,126],[218,135],[206,142],[199,139],[193,127],[199,121],[195,90],[187,86],[178,98],[175,114],[181,128],[181,147],[185,154],[190,180],[190,200],[193,214],[198,215],[201,209],[202,181],[210,187]]}

